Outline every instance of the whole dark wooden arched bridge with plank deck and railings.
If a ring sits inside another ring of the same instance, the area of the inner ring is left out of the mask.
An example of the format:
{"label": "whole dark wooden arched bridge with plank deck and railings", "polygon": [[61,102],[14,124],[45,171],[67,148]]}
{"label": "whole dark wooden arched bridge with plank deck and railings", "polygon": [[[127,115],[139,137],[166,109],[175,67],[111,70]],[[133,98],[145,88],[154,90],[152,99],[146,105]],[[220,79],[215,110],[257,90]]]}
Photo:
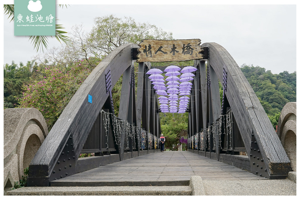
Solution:
{"label": "whole dark wooden arched bridge with plank deck and railings", "polygon": [[[140,62],[136,84],[138,48],[115,49],[83,82],[30,163],[28,186],[186,184],[191,175],[281,179],[292,171],[253,89],[217,43],[202,44],[203,56],[194,61],[188,151],[158,152],[161,110],[147,74],[153,67]],[[122,75],[116,116],[111,90]]]}

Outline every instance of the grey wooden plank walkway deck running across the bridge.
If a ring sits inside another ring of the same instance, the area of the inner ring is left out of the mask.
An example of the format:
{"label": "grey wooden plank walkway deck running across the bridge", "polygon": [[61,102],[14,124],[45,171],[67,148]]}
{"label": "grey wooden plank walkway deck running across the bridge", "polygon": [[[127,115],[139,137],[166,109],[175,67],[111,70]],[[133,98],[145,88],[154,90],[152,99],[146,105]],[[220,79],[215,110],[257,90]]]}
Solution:
{"label": "grey wooden plank walkway deck running across the bridge", "polygon": [[259,180],[263,177],[189,151],[165,151],[130,158],[51,182],[51,186],[176,186],[203,180]]}

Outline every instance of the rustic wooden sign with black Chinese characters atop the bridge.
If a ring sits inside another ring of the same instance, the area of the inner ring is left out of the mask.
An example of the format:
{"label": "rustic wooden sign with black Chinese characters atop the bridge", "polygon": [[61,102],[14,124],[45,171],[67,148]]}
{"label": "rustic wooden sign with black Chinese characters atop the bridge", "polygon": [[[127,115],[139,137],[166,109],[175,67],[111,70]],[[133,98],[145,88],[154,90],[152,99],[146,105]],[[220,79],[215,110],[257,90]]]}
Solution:
{"label": "rustic wooden sign with black Chinese characters atop the bridge", "polygon": [[142,40],[137,62],[167,62],[202,59],[200,39]]}

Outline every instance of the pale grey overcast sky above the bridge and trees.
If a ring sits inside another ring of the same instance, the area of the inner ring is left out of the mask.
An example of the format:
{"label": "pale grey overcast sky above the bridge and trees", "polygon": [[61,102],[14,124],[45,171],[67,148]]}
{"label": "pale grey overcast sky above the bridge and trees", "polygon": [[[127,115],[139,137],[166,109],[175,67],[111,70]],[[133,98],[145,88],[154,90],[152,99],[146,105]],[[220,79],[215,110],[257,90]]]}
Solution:
{"label": "pale grey overcast sky above the bridge and trees", "polygon": [[[56,8],[59,24],[70,32],[75,24],[91,31],[97,16],[131,16],[149,22],[175,39],[201,39],[223,46],[236,63],[280,73],[296,71],[296,5],[70,5]],[[13,36],[4,16],[4,64],[31,60],[36,51],[25,36]],[[49,48],[59,46],[49,39]]]}

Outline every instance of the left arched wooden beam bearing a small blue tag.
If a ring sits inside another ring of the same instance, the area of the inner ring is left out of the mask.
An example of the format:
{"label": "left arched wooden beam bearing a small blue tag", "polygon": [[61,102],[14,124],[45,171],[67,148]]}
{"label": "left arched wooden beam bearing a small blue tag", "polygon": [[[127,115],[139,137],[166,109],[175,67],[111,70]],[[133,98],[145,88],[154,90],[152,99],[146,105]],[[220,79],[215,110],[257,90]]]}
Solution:
{"label": "left arched wooden beam bearing a small blue tag", "polygon": [[[64,176],[75,173],[75,165],[80,151],[95,119],[110,95],[109,90],[132,64],[132,47],[137,48],[138,46],[125,44],[113,50],[76,91],[30,163],[29,186],[49,186],[49,181],[52,181],[51,175],[59,173],[58,170],[56,172],[53,170],[58,162],[61,164],[64,164],[63,162],[72,163],[67,165],[69,173]],[[107,85],[111,87],[107,88]],[[91,95],[92,103],[88,102],[88,95]],[[61,155],[67,156],[66,160],[58,161]],[[70,161],[68,161],[68,157]]]}

